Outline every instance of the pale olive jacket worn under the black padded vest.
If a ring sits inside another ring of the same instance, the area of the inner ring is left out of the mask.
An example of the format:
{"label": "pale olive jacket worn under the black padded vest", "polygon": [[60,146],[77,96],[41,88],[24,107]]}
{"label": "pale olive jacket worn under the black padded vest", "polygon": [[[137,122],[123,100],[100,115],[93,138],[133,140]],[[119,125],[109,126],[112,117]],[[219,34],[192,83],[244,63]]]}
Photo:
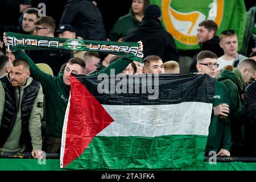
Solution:
{"label": "pale olive jacket worn under the black padded vest", "polygon": [[[9,80],[9,77],[7,78]],[[0,151],[22,152],[24,150],[24,146],[20,146],[20,137],[22,136],[22,132],[26,130],[28,130],[30,133],[33,150],[42,149],[41,119],[43,118],[43,105],[40,105],[40,104],[43,104],[43,90],[41,85],[38,90],[37,96],[33,102],[34,104],[32,104],[32,108],[29,108],[31,110],[30,110],[30,117],[28,120],[28,126],[26,126],[27,124],[24,123],[25,121],[23,121],[24,117],[26,116],[22,115],[22,114],[26,114],[27,112],[24,106],[28,106],[28,105],[26,105],[26,103],[25,105],[22,105],[22,104],[24,104],[23,101],[27,102],[28,100],[30,100],[30,97],[25,98],[24,96],[26,94],[26,89],[28,88],[28,86],[31,85],[32,81],[33,79],[31,77],[28,77],[25,85],[20,86],[19,88],[14,88],[14,92],[15,92],[14,97],[16,98],[13,98],[13,99],[16,101],[16,105],[18,106],[18,108],[16,108],[17,109],[16,117],[15,117],[16,119],[10,131],[9,137],[3,144],[3,147],[0,148]],[[35,89],[35,88],[31,88],[31,89]],[[10,99],[6,98],[6,96],[9,96],[9,95],[8,94],[6,95],[6,90],[4,89],[2,82],[0,82],[0,124],[5,114],[4,112],[6,107],[5,100],[8,99],[8,101],[10,101]],[[15,113],[12,113],[12,114],[15,114]],[[5,115],[5,117],[8,117],[8,116]],[[24,129],[24,127],[28,127],[28,128]],[[25,139],[28,140],[29,138],[25,138]],[[25,143],[26,142],[27,141],[25,141]]]}

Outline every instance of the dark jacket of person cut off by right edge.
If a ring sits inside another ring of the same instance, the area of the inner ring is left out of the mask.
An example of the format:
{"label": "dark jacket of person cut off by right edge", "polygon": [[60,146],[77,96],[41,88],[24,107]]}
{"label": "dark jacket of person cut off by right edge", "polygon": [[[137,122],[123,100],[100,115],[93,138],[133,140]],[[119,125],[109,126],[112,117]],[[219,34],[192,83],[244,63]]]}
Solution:
{"label": "dark jacket of person cut off by right edge", "polygon": [[245,88],[245,141],[249,155],[256,154],[256,81]]}

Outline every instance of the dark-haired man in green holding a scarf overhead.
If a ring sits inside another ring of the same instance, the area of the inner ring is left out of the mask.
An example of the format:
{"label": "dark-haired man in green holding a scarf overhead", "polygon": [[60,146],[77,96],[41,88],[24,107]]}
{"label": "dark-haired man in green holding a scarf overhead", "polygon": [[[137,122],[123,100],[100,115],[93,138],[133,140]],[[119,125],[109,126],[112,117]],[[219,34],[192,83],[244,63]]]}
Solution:
{"label": "dark-haired man in green holding a scarf overhead", "polygon": [[[4,34],[3,40],[5,44],[8,43],[6,34]],[[139,52],[141,52],[143,51],[143,45],[142,42],[138,43]],[[60,152],[63,121],[70,93],[69,75],[71,73],[83,75],[85,63],[79,58],[70,59],[64,72],[56,77],[42,72],[24,52],[16,51],[14,52],[14,55],[16,58],[22,58],[28,61],[30,64],[31,77],[42,84],[44,96],[46,98],[47,152]],[[94,77],[100,73],[107,73],[109,75],[110,69],[115,69],[115,73],[118,74],[132,62],[133,60],[121,57],[118,61],[109,65],[108,68],[104,68],[99,73],[90,76]]]}

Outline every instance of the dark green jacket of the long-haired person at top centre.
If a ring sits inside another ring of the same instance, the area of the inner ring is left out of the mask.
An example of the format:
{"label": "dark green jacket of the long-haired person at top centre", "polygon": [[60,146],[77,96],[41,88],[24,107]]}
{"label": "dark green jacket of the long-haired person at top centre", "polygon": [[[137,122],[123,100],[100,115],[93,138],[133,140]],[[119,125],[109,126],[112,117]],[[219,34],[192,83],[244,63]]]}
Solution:
{"label": "dark green jacket of the long-haired person at top centre", "polygon": [[119,38],[127,35],[133,28],[137,28],[139,20],[135,18],[133,12],[129,11],[125,16],[121,16],[117,22],[115,22],[113,28],[109,32],[109,38],[111,41],[117,41]]}

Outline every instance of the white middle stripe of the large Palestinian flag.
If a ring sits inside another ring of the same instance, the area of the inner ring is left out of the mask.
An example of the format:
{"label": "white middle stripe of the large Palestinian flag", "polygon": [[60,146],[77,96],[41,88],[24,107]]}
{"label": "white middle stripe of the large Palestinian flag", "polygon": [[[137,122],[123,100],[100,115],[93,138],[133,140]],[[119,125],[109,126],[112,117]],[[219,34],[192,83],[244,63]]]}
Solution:
{"label": "white middle stripe of the large Palestinian flag", "polygon": [[114,119],[97,136],[208,135],[212,104],[102,105]]}

